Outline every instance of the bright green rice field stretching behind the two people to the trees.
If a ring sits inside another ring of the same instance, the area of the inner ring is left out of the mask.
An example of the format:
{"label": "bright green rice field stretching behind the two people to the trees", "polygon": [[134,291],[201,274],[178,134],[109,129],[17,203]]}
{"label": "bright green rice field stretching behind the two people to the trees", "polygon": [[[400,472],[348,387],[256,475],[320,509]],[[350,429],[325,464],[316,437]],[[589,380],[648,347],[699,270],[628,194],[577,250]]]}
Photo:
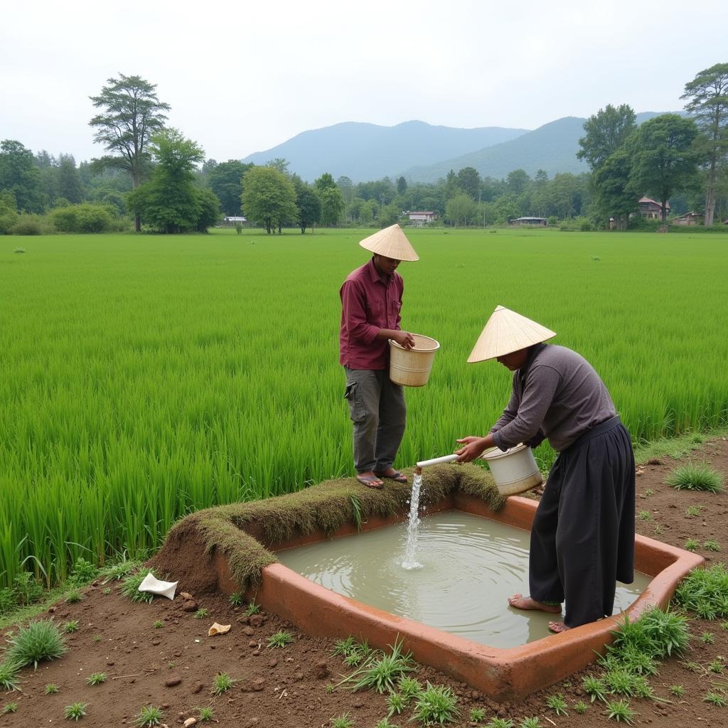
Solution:
{"label": "bright green rice field stretching behind the two people to the trees", "polygon": [[[352,474],[338,291],[365,234],[0,238],[0,587],[145,555],[191,510]],[[465,363],[496,304],[585,355],[634,440],[728,422],[728,234],[411,241],[403,328],[441,349],[407,392],[398,466],[500,414],[510,373]]]}

